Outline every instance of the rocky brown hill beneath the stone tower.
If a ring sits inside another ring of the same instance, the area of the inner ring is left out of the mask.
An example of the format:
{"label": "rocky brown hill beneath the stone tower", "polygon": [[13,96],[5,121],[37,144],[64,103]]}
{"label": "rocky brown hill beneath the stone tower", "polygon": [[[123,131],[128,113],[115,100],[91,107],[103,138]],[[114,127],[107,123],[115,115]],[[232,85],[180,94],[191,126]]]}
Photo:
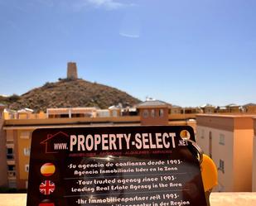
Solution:
{"label": "rocky brown hill beneath the stone tower", "polygon": [[46,111],[46,108],[109,108],[118,103],[126,107],[140,103],[140,100],[103,84],[91,83],[83,79],[60,79],[56,83],[46,83],[21,96],[0,97],[0,102],[6,103],[12,109],[32,108],[38,112]]}

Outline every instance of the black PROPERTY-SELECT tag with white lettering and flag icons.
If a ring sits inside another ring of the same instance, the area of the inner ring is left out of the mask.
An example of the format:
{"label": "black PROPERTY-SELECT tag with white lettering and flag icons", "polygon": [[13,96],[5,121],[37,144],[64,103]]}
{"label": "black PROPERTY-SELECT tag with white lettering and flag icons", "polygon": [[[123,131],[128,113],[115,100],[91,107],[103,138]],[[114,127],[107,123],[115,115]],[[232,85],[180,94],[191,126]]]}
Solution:
{"label": "black PROPERTY-SELECT tag with white lettering and flag icons", "polygon": [[191,127],[77,127],[32,134],[27,206],[206,206]]}

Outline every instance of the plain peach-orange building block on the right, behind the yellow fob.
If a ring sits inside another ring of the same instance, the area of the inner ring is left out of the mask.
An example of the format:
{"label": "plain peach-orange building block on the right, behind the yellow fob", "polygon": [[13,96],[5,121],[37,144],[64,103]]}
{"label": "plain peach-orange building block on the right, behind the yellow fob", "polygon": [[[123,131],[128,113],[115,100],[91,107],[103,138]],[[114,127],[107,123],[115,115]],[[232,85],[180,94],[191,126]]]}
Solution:
{"label": "plain peach-orange building block on the right, behind the yellow fob", "polygon": [[196,116],[196,141],[218,168],[221,192],[252,191],[253,116]]}

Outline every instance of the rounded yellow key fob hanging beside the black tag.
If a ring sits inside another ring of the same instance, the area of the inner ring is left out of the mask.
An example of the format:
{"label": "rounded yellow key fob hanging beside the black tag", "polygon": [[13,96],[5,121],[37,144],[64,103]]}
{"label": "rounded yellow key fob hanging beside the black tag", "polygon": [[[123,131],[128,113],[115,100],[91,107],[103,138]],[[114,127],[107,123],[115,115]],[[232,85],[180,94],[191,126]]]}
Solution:
{"label": "rounded yellow key fob hanging beside the black tag", "polygon": [[218,184],[218,171],[213,160],[209,156],[203,154],[200,164],[200,171],[204,184],[204,189],[210,191]]}

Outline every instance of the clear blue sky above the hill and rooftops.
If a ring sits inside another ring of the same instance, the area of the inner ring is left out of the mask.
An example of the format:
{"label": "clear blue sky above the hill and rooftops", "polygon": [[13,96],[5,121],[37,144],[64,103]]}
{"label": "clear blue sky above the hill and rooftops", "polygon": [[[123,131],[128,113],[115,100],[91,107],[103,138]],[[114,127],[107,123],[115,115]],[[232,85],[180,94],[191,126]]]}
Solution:
{"label": "clear blue sky above the hill and rooftops", "polygon": [[254,0],[0,0],[0,93],[66,75],[181,106],[256,103]]}

